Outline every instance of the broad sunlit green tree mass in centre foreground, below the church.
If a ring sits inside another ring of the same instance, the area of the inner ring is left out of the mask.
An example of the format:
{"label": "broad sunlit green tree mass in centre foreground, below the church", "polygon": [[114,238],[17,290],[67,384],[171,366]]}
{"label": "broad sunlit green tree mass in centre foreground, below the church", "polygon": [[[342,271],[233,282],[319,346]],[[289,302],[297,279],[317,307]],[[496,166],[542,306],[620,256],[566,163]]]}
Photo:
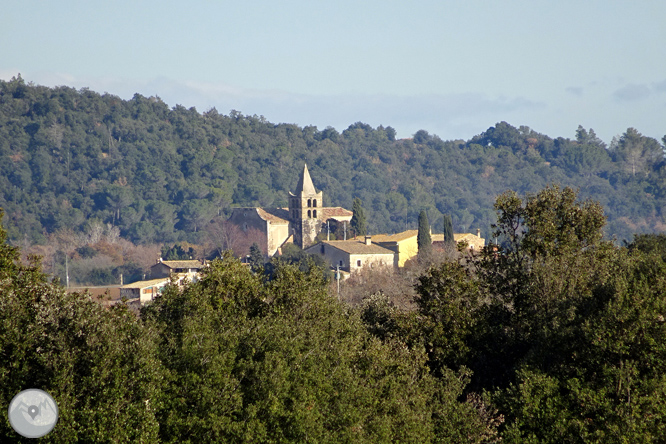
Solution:
{"label": "broad sunlit green tree mass in centre foreground, below the church", "polygon": [[[372,337],[329,297],[320,271],[280,264],[270,280],[230,255],[171,287],[142,317],[159,332],[168,379],[165,442],[483,442],[469,375]],[[381,399],[381,402],[377,402]]]}

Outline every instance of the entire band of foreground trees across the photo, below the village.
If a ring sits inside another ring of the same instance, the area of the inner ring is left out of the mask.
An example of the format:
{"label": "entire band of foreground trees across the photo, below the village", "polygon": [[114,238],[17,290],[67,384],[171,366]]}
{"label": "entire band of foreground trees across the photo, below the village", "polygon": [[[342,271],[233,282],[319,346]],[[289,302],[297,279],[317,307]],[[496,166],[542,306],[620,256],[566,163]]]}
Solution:
{"label": "entire band of foreground trees across the photo, below the village", "polygon": [[229,253],[104,308],[0,226],[0,404],[49,392],[50,443],[663,442],[666,236],[605,240],[602,206],[558,186],[494,212],[499,244],[419,258],[408,310]]}

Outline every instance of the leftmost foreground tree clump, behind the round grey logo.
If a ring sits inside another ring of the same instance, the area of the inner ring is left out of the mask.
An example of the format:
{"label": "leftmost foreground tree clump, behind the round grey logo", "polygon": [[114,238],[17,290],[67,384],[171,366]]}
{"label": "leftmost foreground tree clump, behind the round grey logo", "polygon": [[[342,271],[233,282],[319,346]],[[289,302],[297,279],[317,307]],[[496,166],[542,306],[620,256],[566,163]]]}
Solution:
{"label": "leftmost foreground tree clump, behind the round grey logo", "polygon": [[[163,375],[151,331],[123,304],[49,283],[38,259],[21,264],[5,240],[0,226],[0,402],[27,387],[50,393],[52,442],[156,442]],[[17,439],[7,421],[0,437]]]}

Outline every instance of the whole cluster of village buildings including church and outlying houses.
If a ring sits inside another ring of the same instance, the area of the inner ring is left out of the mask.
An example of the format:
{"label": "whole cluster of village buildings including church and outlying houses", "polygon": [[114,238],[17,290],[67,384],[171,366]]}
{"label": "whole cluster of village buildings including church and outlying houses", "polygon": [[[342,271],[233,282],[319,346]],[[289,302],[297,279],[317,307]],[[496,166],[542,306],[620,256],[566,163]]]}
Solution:
{"label": "whole cluster of village buildings including church and outlying houses", "polygon": [[[258,246],[265,260],[282,255],[283,248],[293,244],[306,254],[322,257],[342,280],[364,269],[398,269],[417,256],[418,230],[357,236],[349,230],[353,216],[354,213],[345,208],[324,206],[323,192],[316,190],[304,165],[296,190],[289,193],[289,208],[234,208],[229,222],[248,236],[261,233],[256,239],[261,243]],[[342,227],[343,239],[331,239],[330,233],[339,232],[339,227]],[[445,247],[444,234],[430,235],[434,249]],[[485,245],[480,229],[476,233],[454,233],[453,237],[457,245],[470,252],[480,251]],[[244,262],[246,259],[242,258]],[[158,258],[143,280],[96,288],[91,292],[97,296],[111,295],[111,301],[107,302],[124,300],[141,306],[152,301],[168,284],[182,286],[196,282],[207,265],[205,260]]]}

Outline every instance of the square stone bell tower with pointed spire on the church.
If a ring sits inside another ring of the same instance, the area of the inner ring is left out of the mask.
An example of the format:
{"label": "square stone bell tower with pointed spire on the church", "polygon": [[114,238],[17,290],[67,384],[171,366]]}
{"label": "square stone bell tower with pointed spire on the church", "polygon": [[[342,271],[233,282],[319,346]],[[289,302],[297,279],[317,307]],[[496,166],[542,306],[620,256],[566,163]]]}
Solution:
{"label": "square stone bell tower with pointed spire on the church", "polygon": [[308,166],[298,179],[296,192],[289,192],[289,221],[294,235],[294,243],[307,248],[314,243],[321,232],[323,212],[323,192],[315,190]]}

